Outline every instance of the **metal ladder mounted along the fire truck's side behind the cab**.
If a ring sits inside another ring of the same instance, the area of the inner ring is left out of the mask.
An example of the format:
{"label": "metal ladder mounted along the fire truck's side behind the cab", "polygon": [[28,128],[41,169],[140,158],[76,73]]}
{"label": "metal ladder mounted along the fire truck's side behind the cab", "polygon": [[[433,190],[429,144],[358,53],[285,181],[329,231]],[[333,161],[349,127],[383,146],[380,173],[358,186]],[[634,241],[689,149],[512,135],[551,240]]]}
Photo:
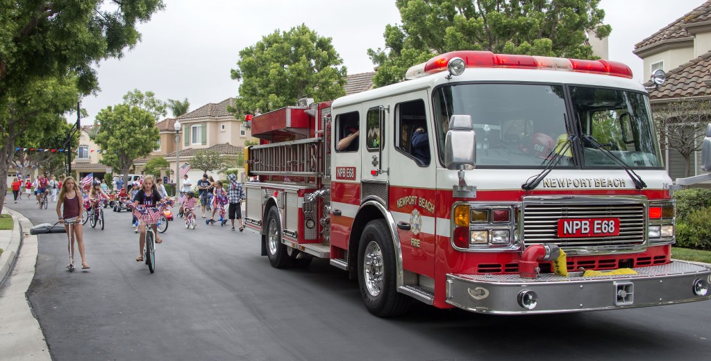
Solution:
{"label": "metal ladder mounted along the fire truck's side behind the cab", "polygon": [[323,174],[322,149],[321,138],[252,145],[247,162],[252,174],[316,177]]}

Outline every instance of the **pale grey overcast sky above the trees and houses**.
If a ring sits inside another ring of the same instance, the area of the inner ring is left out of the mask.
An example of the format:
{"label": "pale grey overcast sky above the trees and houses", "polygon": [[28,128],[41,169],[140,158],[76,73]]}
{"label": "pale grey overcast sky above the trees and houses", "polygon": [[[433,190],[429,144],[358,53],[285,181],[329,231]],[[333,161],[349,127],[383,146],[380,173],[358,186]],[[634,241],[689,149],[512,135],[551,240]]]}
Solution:
{"label": "pale grey overcast sky above the trees and houses", "polygon": [[[610,60],[626,63],[642,82],[642,61],[632,54],[634,44],[667,26],[703,0],[602,0],[604,23],[612,26]],[[333,46],[348,74],[373,71],[366,51],[382,48],[388,23],[398,23],[395,0],[164,0],[166,9],[141,24],[142,41],[121,60],[102,62],[102,91],[82,100],[91,124],[109,105],[122,102],[132,89],[154,91],[161,100],[185,99],[190,110],[237,96],[239,84],[230,79],[239,51],[275,29],[301,23]],[[171,116],[169,113],[168,116]],[[70,121],[75,116],[70,116]]]}

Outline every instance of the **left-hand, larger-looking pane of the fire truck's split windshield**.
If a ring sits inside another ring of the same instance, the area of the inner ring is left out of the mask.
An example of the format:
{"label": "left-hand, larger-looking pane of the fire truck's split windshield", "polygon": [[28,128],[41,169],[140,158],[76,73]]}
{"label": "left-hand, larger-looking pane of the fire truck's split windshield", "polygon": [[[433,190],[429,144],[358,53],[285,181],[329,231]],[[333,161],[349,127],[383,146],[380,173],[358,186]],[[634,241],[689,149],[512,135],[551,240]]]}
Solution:
{"label": "left-hand, larger-looking pane of the fire truck's split windshield", "polygon": [[[567,140],[561,85],[456,84],[433,98],[440,160],[453,114],[471,115],[477,167],[542,167]],[[565,153],[557,167],[573,165]]]}

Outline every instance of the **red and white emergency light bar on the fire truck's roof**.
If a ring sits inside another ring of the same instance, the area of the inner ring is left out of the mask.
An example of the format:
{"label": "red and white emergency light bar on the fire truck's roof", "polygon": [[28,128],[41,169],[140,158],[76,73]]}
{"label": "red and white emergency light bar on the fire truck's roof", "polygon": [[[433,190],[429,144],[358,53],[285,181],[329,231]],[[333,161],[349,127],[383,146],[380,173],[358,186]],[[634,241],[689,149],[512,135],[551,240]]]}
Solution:
{"label": "red and white emergency light bar on the fire truck's roof", "polygon": [[[621,62],[608,60],[580,60],[565,57],[540,57],[535,55],[494,54],[490,51],[461,50],[437,55],[422,64],[413,65],[405,79],[416,79],[447,70],[450,60],[464,60],[465,67],[508,67],[515,69],[565,70],[589,72],[632,79],[632,70]],[[457,74],[454,74],[457,75]]]}

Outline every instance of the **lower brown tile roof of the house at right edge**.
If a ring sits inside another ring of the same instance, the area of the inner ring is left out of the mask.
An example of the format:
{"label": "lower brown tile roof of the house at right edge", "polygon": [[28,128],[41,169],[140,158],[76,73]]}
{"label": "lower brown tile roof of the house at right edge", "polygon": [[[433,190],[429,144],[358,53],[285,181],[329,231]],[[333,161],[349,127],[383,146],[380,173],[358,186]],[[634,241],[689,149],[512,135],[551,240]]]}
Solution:
{"label": "lower brown tile roof of the house at right edge", "polygon": [[[649,91],[651,101],[683,96],[711,96],[711,51],[669,70],[658,89]],[[709,84],[706,84],[709,82]],[[651,82],[646,82],[650,86]]]}

